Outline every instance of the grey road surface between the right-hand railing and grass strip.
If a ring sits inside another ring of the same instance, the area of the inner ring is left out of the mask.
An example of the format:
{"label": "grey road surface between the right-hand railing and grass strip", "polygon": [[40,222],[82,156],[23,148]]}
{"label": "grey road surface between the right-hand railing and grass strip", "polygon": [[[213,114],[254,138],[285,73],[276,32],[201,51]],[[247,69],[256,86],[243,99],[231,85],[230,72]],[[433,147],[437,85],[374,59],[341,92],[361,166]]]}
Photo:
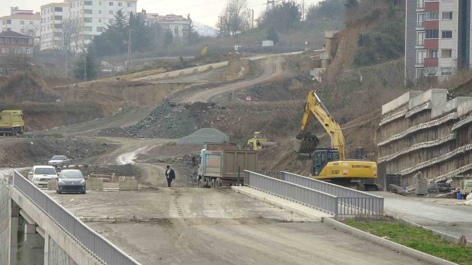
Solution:
{"label": "grey road surface between the right-hand railing and grass strip", "polygon": [[391,192],[369,192],[385,198],[384,212],[456,237],[472,239],[472,207],[454,205],[464,200],[402,196]]}

